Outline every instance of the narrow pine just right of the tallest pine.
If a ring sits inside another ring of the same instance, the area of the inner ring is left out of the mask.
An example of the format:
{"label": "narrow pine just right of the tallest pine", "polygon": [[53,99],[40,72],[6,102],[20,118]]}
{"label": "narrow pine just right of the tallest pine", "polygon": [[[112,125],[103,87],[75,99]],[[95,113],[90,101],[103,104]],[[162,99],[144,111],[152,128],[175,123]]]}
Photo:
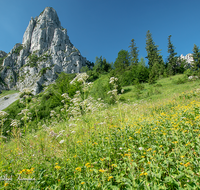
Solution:
{"label": "narrow pine just right of the tallest pine", "polygon": [[178,71],[178,65],[177,65],[177,53],[175,52],[175,48],[171,42],[171,35],[168,37],[168,63],[167,63],[167,71],[169,75],[175,75]]}

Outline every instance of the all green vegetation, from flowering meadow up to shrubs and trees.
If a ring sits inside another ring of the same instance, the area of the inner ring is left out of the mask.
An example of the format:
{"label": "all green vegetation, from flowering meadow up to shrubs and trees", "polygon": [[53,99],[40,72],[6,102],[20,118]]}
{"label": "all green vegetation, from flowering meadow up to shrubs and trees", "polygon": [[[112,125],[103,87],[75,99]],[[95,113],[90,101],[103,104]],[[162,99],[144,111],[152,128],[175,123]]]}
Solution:
{"label": "all green vegetation, from flowering meadow up to shrubs and trees", "polygon": [[[2,188],[199,188],[199,48],[194,66],[176,57],[171,35],[166,63],[150,31],[148,64],[134,39],[129,48],[0,111],[0,176],[12,176]],[[34,52],[28,65],[50,58]]]}

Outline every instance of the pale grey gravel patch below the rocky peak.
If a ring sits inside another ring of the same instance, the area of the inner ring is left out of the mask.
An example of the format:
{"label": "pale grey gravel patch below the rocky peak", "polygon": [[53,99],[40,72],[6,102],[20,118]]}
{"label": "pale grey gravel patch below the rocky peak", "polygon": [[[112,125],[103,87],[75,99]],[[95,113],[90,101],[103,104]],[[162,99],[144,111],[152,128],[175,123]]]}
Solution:
{"label": "pale grey gravel patch below the rocky peak", "polygon": [[[6,98],[5,98],[6,97]],[[0,111],[19,99],[19,93],[9,94],[0,98]]]}

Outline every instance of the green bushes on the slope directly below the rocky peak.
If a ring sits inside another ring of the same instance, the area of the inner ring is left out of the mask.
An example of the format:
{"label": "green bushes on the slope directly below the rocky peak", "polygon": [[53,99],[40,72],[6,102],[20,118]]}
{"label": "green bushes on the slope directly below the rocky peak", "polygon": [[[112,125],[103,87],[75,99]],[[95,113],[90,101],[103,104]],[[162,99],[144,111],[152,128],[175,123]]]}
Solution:
{"label": "green bushes on the slope directly below the rocky peak", "polygon": [[[9,114],[9,118],[21,120],[23,116],[18,114],[23,109],[29,109],[32,117],[32,126],[34,129],[37,129],[37,122],[50,118],[51,110],[57,110],[57,113],[59,113],[61,107],[63,107],[63,103],[61,102],[63,100],[63,93],[68,93],[69,97],[72,98],[77,90],[81,91],[80,83],[70,84],[75,75],[61,73],[55,84],[50,85],[45,92],[35,96],[36,101],[32,99],[33,95],[31,93],[23,93],[20,97],[24,103],[18,100],[5,109]],[[10,120],[6,121],[4,130],[12,129],[10,122]],[[21,121],[20,126],[24,126],[23,121]]]}

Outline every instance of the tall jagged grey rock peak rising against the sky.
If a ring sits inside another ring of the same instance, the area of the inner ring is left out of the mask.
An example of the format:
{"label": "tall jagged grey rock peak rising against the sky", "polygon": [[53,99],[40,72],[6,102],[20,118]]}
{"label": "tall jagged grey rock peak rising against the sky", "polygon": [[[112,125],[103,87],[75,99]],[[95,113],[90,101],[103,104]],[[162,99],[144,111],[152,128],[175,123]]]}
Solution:
{"label": "tall jagged grey rock peak rising against the sky", "polygon": [[79,73],[92,64],[70,42],[56,11],[47,7],[31,18],[22,44],[14,46],[3,61],[1,79],[10,89],[30,88],[33,94],[55,81],[58,73]]}

